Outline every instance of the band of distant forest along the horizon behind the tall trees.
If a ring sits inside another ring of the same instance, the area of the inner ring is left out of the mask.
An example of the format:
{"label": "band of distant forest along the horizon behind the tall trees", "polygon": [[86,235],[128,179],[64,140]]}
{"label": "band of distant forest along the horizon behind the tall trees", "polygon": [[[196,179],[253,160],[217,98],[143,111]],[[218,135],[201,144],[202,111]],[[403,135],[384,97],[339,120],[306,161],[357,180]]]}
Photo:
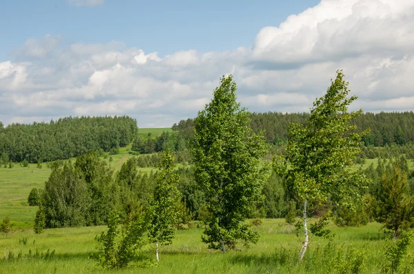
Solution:
{"label": "band of distant forest along the horizon behind the tall trees", "polygon": [[[251,113],[250,127],[264,131],[268,143],[278,145],[287,138],[290,123],[304,123],[307,113]],[[364,113],[353,120],[358,131],[371,128],[363,141],[366,147],[414,143],[414,112]],[[86,154],[91,149],[116,152],[132,143],[139,154],[172,149],[184,151],[193,136],[194,118],[172,125],[172,132],[160,136],[138,135],[137,120],[128,116],[67,117],[50,123],[19,124],[3,127],[0,122],[1,162],[45,162]]]}

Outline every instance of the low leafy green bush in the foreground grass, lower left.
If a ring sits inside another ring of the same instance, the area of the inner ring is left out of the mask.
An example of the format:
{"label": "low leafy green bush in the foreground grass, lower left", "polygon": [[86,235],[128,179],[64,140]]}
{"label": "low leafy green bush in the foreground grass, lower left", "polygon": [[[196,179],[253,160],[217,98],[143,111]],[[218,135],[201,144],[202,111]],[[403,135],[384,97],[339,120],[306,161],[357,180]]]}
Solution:
{"label": "low leafy green bush in the foreground grass, lower left", "polygon": [[99,253],[94,258],[103,268],[125,268],[137,257],[139,249],[145,244],[144,218],[128,218],[121,232],[118,229],[119,221],[119,215],[112,212],[108,218],[108,231],[95,237]]}

